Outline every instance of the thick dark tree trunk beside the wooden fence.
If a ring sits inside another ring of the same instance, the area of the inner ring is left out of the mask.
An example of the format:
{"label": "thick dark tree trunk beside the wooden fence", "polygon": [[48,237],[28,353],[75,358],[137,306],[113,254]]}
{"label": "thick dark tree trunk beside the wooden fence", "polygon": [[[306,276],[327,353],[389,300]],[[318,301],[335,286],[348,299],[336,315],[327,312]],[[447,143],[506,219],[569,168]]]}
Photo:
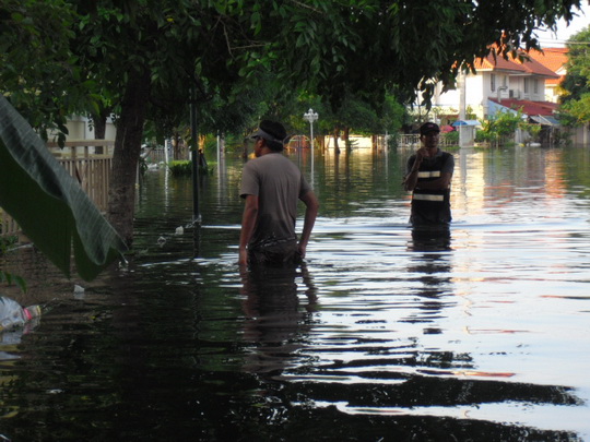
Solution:
{"label": "thick dark tree trunk beside the wooden fence", "polygon": [[108,189],[108,219],[128,246],[133,242],[135,179],[149,98],[149,72],[130,72],[117,124]]}

